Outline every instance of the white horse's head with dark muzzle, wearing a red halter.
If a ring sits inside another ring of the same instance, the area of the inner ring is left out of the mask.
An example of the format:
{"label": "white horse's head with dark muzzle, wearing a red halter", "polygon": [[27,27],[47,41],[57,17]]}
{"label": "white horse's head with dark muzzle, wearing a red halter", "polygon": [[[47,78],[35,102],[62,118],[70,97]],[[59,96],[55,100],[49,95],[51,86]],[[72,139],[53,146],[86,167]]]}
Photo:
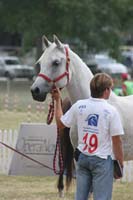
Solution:
{"label": "white horse's head with dark muzzle, wearing a red halter", "polygon": [[43,36],[42,44],[44,52],[37,61],[40,73],[31,86],[33,99],[37,101],[45,101],[54,85],[65,87],[71,77],[68,46],[61,43],[55,35],[53,43]]}

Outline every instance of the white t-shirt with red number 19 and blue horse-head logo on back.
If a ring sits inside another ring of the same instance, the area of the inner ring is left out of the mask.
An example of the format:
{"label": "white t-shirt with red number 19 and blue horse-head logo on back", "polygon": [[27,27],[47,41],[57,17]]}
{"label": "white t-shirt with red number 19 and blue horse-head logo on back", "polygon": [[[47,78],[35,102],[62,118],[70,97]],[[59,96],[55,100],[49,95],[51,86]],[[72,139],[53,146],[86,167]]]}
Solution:
{"label": "white t-shirt with red number 19 and blue horse-head logo on back", "polygon": [[78,149],[89,156],[112,154],[112,136],[123,135],[119,113],[105,99],[79,100],[62,117],[66,127],[78,127]]}

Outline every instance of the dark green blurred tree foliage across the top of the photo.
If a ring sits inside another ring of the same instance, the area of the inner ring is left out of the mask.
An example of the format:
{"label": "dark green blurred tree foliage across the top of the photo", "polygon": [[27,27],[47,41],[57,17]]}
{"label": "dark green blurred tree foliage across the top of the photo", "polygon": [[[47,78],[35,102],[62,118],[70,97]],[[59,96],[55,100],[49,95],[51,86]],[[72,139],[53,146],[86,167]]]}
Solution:
{"label": "dark green blurred tree foliage across the top of the photo", "polygon": [[25,49],[57,34],[91,51],[116,52],[132,24],[132,0],[0,0],[0,29],[21,33]]}

